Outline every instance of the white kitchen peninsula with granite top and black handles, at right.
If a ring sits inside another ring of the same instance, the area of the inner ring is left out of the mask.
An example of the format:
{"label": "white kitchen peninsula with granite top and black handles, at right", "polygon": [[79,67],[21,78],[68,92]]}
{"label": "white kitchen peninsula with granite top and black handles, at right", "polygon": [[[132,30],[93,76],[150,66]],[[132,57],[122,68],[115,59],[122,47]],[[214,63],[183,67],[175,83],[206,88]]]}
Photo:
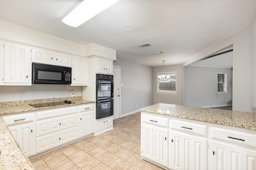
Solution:
{"label": "white kitchen peninsula with granite top and black handles, at right", "polygon": [[256,168],[255,112],[164,103],[139,111],[145,160],[174,170]]}

